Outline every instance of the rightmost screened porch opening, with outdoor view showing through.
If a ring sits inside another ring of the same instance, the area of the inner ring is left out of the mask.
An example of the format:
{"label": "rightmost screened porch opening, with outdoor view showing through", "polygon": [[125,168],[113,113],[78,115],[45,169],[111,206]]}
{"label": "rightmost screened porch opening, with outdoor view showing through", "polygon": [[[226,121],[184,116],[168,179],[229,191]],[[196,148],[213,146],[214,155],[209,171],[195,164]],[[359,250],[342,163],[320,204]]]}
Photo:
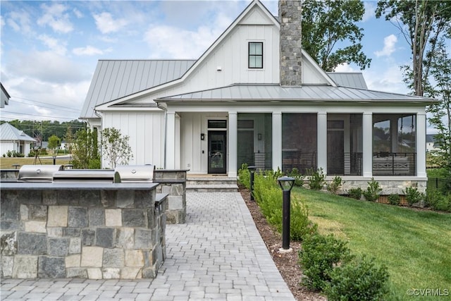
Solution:
{"label": "rightmost screened porch opening, with outdoor view showing through", "polygon": [[416,175],[416,114],[373,114],[373,176]]}

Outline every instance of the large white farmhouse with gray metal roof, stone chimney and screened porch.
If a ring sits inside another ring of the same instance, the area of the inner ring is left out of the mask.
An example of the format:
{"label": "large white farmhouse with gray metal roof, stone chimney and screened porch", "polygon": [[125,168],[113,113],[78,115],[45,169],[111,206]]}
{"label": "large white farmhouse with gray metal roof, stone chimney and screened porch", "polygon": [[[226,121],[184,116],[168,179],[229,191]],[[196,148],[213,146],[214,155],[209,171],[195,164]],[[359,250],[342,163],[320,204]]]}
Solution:
{"label": "large white farmhouse with gray metal roof, stone chimney and screened porch", "polygon": [[277,18],[252,1],[197,60],[100,60],[80,118],[130,136],[130,164],[230,177],[243,163],[323,168],[349,187],[374,176],[424,188],[434,100],[324,72],[300,48],[299,2],[281,3]]}

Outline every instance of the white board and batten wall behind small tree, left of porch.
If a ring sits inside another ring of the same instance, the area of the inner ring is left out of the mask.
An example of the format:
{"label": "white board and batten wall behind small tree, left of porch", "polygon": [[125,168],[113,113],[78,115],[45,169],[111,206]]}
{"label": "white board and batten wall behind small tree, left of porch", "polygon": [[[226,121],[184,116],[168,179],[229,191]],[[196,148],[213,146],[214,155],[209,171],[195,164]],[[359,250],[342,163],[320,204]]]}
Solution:
{"label": "white board and batten wall behind small tree, left of porch", "polygon": [[[155,112],[107,113],[102,118],[102,128],[121,129],[128,135],[133,158],[129,164],[153,164],[164,168],[165,114]],[[106,162],[102,162],[106,168]]]}

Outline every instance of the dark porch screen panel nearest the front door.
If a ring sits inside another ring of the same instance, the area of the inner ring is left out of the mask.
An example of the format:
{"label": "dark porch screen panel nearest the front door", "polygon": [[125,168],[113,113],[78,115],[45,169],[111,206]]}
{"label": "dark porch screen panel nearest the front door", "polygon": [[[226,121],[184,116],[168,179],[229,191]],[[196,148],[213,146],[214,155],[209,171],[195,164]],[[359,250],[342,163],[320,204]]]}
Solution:
{"label": "dark porch screen panel nearest the front door", "polygon": [[271,113],[238,113],[237,168],[271,169],[272,137]]}

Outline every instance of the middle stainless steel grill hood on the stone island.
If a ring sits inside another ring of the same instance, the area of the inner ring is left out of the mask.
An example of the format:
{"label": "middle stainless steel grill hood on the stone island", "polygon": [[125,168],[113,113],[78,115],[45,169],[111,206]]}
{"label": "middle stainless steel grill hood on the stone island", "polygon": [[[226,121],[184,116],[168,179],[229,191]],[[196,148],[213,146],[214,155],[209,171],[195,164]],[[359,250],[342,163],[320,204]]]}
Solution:
{"label": "middle stainless steel grill hood on the stone island", "polygon": [[56,171],[53,174],[54,183],[121,183],[121,176],[117,171],[102,169],[70,169]]}

